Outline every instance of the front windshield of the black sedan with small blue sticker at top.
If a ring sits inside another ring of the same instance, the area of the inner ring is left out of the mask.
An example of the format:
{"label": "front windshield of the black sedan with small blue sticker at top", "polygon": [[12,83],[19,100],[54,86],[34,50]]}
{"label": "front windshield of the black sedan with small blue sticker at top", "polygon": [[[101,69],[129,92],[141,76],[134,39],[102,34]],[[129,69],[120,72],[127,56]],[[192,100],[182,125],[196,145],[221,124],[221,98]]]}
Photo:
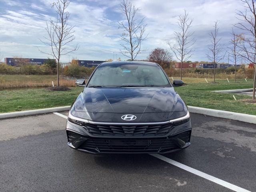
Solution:
{"label": "front windshield of the black sedan with small blue sticker at top", "polygon": [[159,66],[111,65],[99,66],[87,87],[171,87]]}

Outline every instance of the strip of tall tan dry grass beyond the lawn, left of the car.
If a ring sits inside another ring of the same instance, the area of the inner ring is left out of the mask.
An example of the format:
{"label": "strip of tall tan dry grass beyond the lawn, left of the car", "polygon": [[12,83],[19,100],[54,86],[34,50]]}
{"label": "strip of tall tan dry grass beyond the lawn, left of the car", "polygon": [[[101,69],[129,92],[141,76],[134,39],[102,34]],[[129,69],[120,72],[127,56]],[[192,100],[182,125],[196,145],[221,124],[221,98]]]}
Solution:
{"label": "strip of tall tan dry grass beyond the lawn, left of the car", "polygon": [[[57,85],[56,76],[0,76],[0,90],[8,88],[49,87]],[[60,85],[76,86],[75,80],[60,78]]]}

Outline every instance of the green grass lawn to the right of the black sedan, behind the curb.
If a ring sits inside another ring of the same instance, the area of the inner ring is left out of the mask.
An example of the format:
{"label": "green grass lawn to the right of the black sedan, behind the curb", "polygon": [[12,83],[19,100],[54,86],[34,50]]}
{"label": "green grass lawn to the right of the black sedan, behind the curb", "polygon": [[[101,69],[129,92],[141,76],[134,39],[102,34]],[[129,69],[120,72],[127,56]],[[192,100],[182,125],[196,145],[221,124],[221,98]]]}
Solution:
{"label": "green grass lawn to the right of the black sedan, behind the curb", "polygon": [[[188,85],[174,88],[187,105],[256,115],[256,104],[246,104],[241,101],[241,99],[252,99],[251,96],[211,92],[252,88],[252,79],[248,79],[248,82],[237,80],[240,83],[235,83],[234,80],[230,80],[230,83],[227,80],[216,80],[218,84],[207,84],[205,80],[202,83],[189,83],[197,81],[199,81],[197,78],[184,78],[184,82]],[[237,101],[234,100],[233,95],[236,96]]]}

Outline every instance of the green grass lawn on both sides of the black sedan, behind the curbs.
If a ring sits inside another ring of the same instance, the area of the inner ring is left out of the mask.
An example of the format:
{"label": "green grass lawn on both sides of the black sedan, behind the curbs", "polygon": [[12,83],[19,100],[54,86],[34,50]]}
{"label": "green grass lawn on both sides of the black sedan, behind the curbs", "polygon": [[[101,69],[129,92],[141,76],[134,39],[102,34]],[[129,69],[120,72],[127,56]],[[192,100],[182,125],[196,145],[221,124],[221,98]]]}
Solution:
{"label": "green grass lawn on both sides of the black sedan, behind the curbs", "polygon": [[[175,87],[175,90],[187,105],[256,115],[256,104],[246,104],[241,101],[241,99],[250,99],[251,96],[236,95],[237,101],[235,101],[233,94],[211,92],[212,90],[252,88],[251,79],[248,79],[248,82],[242,79],[237,80],[240,83],[234,83],[234,80],[230,80],[230,83],[227,80],[216,80],[218,84],[207,84],[200,78],[183,78],[183,81],[188,85]],[[208,82],[211,81],[208,80]],[[73,87],[70,91],[64,92],[54,92],[44,88],[2,90],[0,91],[0,113],[67,106],[72,104],[82,90],[82,87]]]}

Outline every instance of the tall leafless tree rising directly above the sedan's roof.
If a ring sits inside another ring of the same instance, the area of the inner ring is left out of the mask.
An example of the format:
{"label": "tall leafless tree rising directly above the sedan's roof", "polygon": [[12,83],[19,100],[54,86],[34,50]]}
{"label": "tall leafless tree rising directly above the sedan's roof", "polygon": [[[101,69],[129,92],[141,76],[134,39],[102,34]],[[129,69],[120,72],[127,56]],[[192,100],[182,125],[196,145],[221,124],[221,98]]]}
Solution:
{"label": "tall leafless tree rising directly above the sedan's roof", "polygon": [[148,36],[144,35],[147,24],[143,24],[144,18],[141,20],[136,18],[139,8],[136,8],[131,2],[123,0],[120,4],[120,10],[126,17],[126,22],[118,22],[118,28],[123,30],[120,37],[122,40],[120,45],[123,50],[120,50],[120,53],[133,61],[138,54],[146,50],[142,50],[141,42],[146,40]]}

